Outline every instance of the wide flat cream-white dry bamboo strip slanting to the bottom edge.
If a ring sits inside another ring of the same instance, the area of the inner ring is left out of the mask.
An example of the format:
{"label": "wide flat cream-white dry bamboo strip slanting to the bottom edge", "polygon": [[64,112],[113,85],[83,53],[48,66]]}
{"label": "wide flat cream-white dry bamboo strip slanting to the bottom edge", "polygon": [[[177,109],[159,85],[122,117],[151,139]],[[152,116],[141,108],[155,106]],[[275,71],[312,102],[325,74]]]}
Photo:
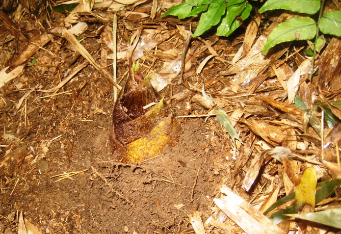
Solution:
{"label": "wide flat cream-white dry bamboo strip slanting to the bottom edge", "polygon": [[220,199],[215,198],[216,205],[246,233],[284,234],[283,230],[231,189],[224,186],[220,190],[226,196]]}

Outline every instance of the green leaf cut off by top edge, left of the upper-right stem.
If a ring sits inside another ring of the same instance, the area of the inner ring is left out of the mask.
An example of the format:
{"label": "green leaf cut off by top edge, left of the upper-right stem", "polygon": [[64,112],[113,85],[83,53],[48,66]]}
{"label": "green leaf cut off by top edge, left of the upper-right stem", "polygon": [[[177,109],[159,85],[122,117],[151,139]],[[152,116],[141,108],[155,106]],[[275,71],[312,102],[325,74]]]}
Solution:
{"label": "green leaf cut off by top edge, left of the upper-right stem", "polygon": [[258,11],[264,13],[283,9],[312,15],[319,11],[320,5],[320,0],[268,0]]}

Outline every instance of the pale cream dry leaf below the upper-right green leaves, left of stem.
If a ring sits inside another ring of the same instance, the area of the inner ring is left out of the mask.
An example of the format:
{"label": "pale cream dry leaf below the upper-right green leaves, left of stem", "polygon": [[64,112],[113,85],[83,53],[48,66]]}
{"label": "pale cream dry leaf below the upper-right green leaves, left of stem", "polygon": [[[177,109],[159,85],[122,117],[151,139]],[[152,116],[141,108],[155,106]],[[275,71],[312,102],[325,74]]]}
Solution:
{"label": "pale cream dry leaf below the upper-right green leaves, left of stem", "polygon": [[287,96],[289,103],[293,103],[295,99],[295,95],[299,88],[300,78],[303,75],[306,75],[311,70],[311,61],[310,59],[306,59],[303,63],[297,68],[292,76],[287,81]]}

